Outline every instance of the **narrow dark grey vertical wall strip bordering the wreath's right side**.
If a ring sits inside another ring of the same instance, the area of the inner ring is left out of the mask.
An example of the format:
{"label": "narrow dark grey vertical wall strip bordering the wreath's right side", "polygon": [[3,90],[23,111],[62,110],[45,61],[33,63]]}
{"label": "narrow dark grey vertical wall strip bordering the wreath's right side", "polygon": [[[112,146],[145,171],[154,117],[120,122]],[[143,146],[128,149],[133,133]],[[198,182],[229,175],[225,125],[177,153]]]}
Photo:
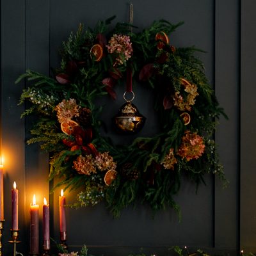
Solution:
{"label": "narrow dark grey vertical wall strip bordering the wreath's right side", "polygon": [[215,187],[215,246],[239,250],[239,0],[216,1],[215,88],[229,120],[216,132],[221,162],[230,184]]}

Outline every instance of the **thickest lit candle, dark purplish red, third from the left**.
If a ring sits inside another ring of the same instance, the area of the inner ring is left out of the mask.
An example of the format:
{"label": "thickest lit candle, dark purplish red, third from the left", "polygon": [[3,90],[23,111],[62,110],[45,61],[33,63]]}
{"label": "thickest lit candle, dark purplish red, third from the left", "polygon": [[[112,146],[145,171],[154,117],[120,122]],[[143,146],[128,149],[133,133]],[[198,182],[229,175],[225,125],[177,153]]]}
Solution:
{"label": "thickest lit candle, dark purplish red, third from the left", "polygon": [[30,254],[39,254],[39,205],[36,204],[36,196],[33,196],[33,204],[30,204]]}

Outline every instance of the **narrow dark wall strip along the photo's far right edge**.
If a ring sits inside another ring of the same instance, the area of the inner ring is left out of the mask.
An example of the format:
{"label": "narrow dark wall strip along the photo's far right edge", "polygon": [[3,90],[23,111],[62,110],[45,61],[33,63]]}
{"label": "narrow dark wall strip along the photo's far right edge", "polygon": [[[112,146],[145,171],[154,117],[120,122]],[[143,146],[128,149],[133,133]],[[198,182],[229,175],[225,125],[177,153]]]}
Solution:
{"label": "narrow dark wall strip along the photo's far right edge", "polygon": [[256,2],[241,1],[241,248],[256,252]]}

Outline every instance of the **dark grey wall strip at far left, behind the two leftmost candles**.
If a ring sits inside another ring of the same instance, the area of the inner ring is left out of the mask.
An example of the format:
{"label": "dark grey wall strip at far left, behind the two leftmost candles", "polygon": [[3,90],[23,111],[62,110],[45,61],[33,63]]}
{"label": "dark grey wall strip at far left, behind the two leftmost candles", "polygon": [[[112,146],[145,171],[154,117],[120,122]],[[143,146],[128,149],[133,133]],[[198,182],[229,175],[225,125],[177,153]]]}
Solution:
{"label": "dark grey wall strip at far left, behind the two leftmost candles", "polygon": [[[12,252],[11,189],[14,180],[19,189],[19,228],[22,240],[27,236],[24,225],[25,204],[25,164],[24,164],[24,120],[20,114],[24,110],[17,106],[24,84],[15,85],[15,79],[25,67],[25,3],[24,1],[1,1],[1,116],[4,163],[4,230],[3,254]],[[21,244],[19,250],[24,250]]]}

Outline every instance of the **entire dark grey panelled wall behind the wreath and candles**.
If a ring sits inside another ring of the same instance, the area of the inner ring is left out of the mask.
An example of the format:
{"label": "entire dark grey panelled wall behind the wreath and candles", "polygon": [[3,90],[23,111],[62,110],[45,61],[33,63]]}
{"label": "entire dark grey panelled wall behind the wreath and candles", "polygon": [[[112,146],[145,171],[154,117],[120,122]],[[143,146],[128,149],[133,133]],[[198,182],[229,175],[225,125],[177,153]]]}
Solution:
{"label": "entire dark grey panelled wall behind the wreath and candles", "polygon": [[[156,214],[154,220],[147,205],[126,209],[118,220],[103,204],[93,208],[67,210],[70,250],[86,244],[90,253],[127,255],[145,252],[166,255],[173,245],[188,246],[190,251],[205,248],[207,252],[239,250],[256,252],[255,204],[255,0],[134,0],[134,24],[141,29],[153,20],[166,19],[185,24],[170,35],[170,43],[206,51],[198,56],[229,120],[221,119],[216,132],[221,162],[230,185],[223,189],[220,180],[206,177],[206,186],[195,187],[182,181],[175,198],[182,210],[179,223],[172,209]],[[127,21],[127,1],[82,0],[2,0],[1,1],[1,134],[4,169],[5,223],[4,255],[12,252],[10,239],[10,191],[13,181],[19,189],[19,252],[29,251],[29,204],[35,193],[40,205],[46,197],[51,203],[51,236],[59,241],[58,195],[49,196],[48,156],[37,145],[26,145],[31,120],[20,119],[24,106],[17,106],[26,84],[14,84],[27,68],[49,74],[58,67],[58,49],[79,22],[95,26],[98,20],[116,15],[116,21]],[[154,132],[150,117],[150,95],[136,93],[134,102],[147,116],[144,132]],[[107,116],[113,116],[122,104],[106,102]],[[114,136],[114,135],[113,135]],[[127,138],[114,136],[116,141]],[[75,194],[66,193],[67,202]],[[41,221],[42,222],[42,221]],[[42,239],[40,239],[42,244]]]}

